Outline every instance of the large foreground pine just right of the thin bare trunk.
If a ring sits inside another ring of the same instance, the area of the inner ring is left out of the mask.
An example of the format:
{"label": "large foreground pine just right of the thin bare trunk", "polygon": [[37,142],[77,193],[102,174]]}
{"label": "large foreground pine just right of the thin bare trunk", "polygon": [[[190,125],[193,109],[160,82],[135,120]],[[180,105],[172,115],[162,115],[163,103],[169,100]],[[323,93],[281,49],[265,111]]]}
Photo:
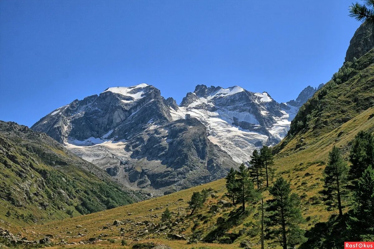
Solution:
{"label": "large foreground pine just right of the thin bare trunk", "polygon": [[267,201],[266,207],[269,213],[265,220],[266,237],[278,240],[283,249],[287,249],[287,245],[294,246],[305,241],[304,232],[298,226],[303,221],[300,198],[291,193],[290,186],[282,177],[278,178],[269,189],[273,199]]}

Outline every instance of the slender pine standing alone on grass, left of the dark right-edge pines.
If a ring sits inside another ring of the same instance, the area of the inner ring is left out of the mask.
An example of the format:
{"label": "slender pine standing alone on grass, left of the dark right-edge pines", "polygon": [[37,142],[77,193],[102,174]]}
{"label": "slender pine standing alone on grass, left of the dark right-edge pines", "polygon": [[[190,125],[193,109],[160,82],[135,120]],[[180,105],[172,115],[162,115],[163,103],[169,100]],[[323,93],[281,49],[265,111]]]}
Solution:
{"label": "slender pine standing alone on grass, left of the dark right-edge pines", "polygon": [[341,159],[338,147],[332,147],[329,153],[329,162],[324,170],[325,184],[321,191],[324,196],[325,204],[328,209],[336,206],[338,203],[339,215],[343,215],[341,197],[345,194],[345,184],[347,180],[347,166]]}

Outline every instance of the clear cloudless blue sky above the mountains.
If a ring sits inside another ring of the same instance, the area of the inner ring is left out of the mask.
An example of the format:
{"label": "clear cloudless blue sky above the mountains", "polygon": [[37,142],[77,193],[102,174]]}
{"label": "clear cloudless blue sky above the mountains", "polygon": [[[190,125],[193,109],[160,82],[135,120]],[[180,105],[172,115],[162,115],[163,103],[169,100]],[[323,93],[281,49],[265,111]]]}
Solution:
{"label": "clear cloudless blue sky above the mountains", "polygon": [[295,99],[342,65],[352,0],[0,1],[0,119],[31,126],[105,88],[196,84]]}

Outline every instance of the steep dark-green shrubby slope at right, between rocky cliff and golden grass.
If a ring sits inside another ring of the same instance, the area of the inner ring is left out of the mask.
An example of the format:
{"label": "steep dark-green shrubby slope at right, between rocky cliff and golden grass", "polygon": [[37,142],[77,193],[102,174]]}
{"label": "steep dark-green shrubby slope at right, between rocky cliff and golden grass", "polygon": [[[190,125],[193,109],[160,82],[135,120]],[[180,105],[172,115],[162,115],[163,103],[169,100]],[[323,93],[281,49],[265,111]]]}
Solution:
{"label": "steep dark-green shrubby slope at right, between rocky cliff and golden grass", "polygon": [[[346,63],[299,110],[288,136],[276,147],[283,155],[297,152],[374,106],[374,49]],[[335,138],[338,139],[338,138]]]}

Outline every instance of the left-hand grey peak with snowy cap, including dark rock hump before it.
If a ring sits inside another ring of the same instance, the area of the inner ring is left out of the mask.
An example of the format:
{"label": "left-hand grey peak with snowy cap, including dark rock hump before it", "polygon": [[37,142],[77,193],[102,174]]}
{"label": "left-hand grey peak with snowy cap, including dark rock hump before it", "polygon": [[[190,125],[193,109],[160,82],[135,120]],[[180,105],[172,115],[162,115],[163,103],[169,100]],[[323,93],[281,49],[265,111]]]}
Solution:
{"label": "left-hand grey peak with snowy cap, including dark rock hump before it", "polygon": [[147,84],[74,100],[31,127],[134,189],[174,192],[224,177],[236,162],[195,118],[175,119],[173,99]]}

